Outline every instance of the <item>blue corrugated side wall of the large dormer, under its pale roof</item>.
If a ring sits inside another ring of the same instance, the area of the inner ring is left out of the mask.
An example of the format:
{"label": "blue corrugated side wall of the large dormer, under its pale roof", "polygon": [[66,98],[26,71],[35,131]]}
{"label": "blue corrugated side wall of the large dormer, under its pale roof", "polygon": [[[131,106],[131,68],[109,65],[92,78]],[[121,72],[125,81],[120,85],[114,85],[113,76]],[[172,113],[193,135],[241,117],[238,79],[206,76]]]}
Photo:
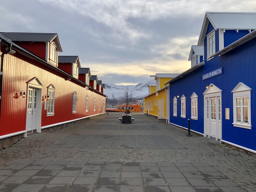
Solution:
{"label": "blue corrugated side wall of the large dormer, under its pale roof", "polygon": [[224,47],[229,46],[231,43],[247,35],[248,33],[248,30],[239,30],[238,33],[236,30],[226,30],[224,33]]}

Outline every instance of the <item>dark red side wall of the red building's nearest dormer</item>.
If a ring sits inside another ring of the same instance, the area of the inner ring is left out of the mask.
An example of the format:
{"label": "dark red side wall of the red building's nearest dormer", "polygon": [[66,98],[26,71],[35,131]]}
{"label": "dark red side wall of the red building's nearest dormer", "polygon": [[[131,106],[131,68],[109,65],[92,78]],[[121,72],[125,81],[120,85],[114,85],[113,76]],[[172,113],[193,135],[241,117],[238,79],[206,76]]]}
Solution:
{"label": "dark red side wall of the red building's nearest dormer", "polygon": [[45,42],[16,42],[18,45],[24,47],[25,49],[31,51],[38,57],[41,57],[44,60],[46,56],[46,44]]}

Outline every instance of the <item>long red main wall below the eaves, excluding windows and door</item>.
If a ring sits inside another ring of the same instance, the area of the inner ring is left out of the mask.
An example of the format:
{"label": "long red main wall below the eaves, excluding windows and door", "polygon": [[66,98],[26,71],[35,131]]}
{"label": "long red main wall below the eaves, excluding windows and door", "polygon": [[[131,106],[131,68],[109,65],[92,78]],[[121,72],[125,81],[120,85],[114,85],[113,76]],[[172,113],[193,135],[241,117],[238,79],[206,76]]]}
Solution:
{"label": "long red main wall below the eaves, excluding windows and door", "polygon": [[[4,51],[5,46],[2,46]],[[27,97],[19,96],[19,91],[25,91],[27,95],[27,81],[37,77],[43,84],[42,95],[47,94],[47,87],[53,84],[55,90],[54,116],[46,116],[44,101],[42,102],[41,126],[65,122],[103,112],[105,97],[87,90],[76,81],[67,81],[61,74],[36,60],[27,58],[18,52],[14,55],[4,55],[3,66],[3,93],[0,119],[0,135],[26,130],[26,105]],[[73,92],[77,92],[77,112],[72,113]],[[88,112],[86,112],[86,96],[89,96]],[[40,98],[40,96],[38,96]],[[96,110],[93,110],[94,98],[96,98]],[[101,110],[99,111],[99,100]]]}

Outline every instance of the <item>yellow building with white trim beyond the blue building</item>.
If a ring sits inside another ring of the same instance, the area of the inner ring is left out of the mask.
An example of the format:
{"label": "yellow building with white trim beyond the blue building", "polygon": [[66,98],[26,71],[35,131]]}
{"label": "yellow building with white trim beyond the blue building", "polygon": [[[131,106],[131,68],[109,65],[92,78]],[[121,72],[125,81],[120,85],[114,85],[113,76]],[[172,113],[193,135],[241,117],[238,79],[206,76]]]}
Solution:
{"label": "yellow building with white trim beyond the blue building", "polygon": [[144,97],[144,112],[158,118],[166,119],[167,114],[167,91],[165,83],[178,76],[174,73],[156,73],[150,77],[155,78],[155,83],[148,83],[148,95]]}

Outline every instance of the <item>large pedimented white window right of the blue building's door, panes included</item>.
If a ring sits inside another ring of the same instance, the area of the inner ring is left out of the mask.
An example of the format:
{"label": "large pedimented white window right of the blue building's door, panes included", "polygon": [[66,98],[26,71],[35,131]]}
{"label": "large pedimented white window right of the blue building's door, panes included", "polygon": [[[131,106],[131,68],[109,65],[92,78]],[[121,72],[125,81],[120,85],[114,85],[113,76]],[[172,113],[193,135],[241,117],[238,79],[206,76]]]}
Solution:
{"label": "large pedimented white window right of the blue building's door, panes included", "polygon": [[240,82],[233,93],[233,126],[251,129],[251,88]]}

